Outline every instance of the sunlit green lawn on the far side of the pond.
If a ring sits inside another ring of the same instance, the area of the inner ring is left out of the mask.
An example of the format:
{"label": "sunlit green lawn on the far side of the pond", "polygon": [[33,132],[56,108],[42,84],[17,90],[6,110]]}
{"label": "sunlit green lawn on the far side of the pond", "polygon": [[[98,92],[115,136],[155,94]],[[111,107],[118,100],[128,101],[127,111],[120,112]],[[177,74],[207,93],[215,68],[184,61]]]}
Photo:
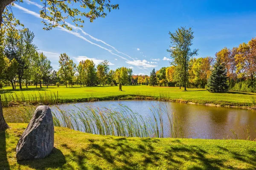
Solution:
{"label": "sunlit green lawn on the far side of the pond", "polygon": [[[58,99],[57,99],[58,91]],[[221,106],[236,106],[255,108],[256,94],[238,91],[226,93],[209,93],[205,89],[188,89],[183,91],[176,87],[151,87],[147,85],[123,86],[123,91],[118,91],[117,86],[97,86],[66,88],[55,86],[49,88],[24,87],[23,90],[12,90],[4,87],[0,90],[3,105],[13,101],[53,104],[58,102],[87,102],[96,100],[114,99],[152,99],[174,102],[192,102],[197,104],[212,104]]]}

